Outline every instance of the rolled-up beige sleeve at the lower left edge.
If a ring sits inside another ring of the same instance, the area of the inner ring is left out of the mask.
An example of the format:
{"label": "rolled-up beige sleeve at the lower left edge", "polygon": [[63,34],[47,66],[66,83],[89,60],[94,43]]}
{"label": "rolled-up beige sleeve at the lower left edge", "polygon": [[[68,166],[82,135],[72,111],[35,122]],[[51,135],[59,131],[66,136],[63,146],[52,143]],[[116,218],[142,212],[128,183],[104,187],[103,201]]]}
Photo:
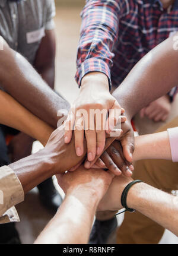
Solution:
{"label": "rolled-up beige sleeve at the lower left edge", "polygon": [[0,168],[0,223],[19,221],[15,205],[24,201],[24,191],[15,172]]}

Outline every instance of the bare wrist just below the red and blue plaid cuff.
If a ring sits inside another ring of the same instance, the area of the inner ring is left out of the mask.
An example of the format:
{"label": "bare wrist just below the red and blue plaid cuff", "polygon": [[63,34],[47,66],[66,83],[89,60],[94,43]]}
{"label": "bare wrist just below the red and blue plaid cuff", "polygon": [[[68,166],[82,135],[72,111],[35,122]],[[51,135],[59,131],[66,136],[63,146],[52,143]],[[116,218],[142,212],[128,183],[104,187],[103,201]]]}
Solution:
{"label": "bare wrist just below the red and blue plaid cuff", "polygon": [[82,78],[81,90],[88,87],[94,86],[95,90],[100,88],[100,90],[109,91],[109,80],[107,75],[102,72],[90,72]]}

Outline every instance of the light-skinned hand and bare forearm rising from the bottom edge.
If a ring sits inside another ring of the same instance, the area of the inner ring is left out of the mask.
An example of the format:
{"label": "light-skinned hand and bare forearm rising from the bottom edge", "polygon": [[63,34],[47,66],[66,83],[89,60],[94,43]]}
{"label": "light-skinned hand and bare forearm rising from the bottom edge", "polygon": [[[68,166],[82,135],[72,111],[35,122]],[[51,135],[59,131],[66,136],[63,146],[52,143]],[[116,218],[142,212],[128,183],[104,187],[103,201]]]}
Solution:
{"label": "light-skinned hand and bare forearm rising from the bottom edge", "polygon": [[83,166],[75,172],[57,175],[65,200],[35,244],[87,244],[96,208],[113,176]]}

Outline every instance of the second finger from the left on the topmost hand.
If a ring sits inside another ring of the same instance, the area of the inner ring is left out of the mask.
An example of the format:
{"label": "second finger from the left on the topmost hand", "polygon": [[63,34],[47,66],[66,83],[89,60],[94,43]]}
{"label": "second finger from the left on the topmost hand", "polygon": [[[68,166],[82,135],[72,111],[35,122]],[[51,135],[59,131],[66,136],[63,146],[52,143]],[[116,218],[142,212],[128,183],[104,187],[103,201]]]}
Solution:
{"label": "second finger from the left on the topmost hand", "polygon": [[83,116],[76,116],[75,119],[75,151],[77,156],[84,154],[84,119]]}

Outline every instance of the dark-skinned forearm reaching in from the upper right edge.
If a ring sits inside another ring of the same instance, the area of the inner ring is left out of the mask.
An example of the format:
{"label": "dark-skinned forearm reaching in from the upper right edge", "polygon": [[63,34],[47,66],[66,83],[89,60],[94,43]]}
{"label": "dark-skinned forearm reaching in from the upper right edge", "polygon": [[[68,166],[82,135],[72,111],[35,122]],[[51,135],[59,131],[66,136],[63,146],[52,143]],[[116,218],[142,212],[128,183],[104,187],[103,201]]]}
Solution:
{"label": "dark-skinned forearm reaching in from the upper right edge", "polygon": [[170,37],[152,49],[113,93],[129,118],[177,86],[178,50],[173,44]]}

